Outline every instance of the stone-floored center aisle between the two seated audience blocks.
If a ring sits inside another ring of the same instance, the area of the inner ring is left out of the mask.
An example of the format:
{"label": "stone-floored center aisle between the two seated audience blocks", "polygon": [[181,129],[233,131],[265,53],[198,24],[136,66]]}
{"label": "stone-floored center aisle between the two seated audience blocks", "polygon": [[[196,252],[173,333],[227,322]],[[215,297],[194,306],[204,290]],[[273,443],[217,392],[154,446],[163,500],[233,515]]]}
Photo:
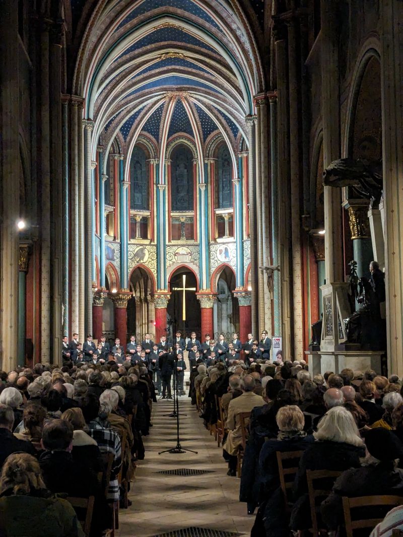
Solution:
{"label": "stone-floored center aisle between the two seated audience blocks", "polygon": [[[163,416],[172,409],[171,400],[153,404],[154,426],[149,436],[143,439],[146,458],[138,462],[129,493],[132,505],[119,511],[117,535],[152,537],[190,527],[250,535],[255,517],[248,517],[246,504],[239,503],[240,480],[226,475],[222,448],[217,447],[214,437],[203,426],[188,396],[179,397],[179,411],[187,414],[181,416],[181,444],[198,454],[158,454],[176,445],[176,419]],[[188,476],[159,473],[177,469],[207,470],[209,473]],[[174,536],[174,533],[169,534],[169,537]]]}

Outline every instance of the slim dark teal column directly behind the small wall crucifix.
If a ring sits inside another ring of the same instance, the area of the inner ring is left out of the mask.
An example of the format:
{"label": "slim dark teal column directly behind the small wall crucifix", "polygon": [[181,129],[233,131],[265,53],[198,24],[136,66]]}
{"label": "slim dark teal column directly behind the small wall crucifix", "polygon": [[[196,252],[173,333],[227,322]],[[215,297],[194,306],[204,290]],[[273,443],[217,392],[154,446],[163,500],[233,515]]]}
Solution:
{"label": "slim dark teal column directly behind the small wall crucifix", "polygon": [[[277,96],[270,97],[271,242],[273,265],[278,260]],[[274,335],[281,337],[280,273],[273,274]]]}

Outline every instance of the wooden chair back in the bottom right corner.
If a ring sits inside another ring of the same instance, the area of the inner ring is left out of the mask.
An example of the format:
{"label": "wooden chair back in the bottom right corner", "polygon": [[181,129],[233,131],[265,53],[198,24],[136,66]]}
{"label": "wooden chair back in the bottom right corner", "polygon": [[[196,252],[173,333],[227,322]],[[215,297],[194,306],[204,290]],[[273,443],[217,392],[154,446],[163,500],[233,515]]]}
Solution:
{"label": "wooden chair back in the bottom right corner", "polygon": [[[384,519],[386,513],[396,507],[397,505],[403,505],[402,496],[360,496],[357,498],[346,498],[343,496],[343,511],[344,511],[344,525],[346,526],[347,537],[354,536],[355,529],[365,528],[368,530],[368,534],[373,528]],[[362,520],[352,520],[351,510],[359,507],[381,507],[384,511],[377,510],[377,514],[380,514],[380,518],[366,518]]]}

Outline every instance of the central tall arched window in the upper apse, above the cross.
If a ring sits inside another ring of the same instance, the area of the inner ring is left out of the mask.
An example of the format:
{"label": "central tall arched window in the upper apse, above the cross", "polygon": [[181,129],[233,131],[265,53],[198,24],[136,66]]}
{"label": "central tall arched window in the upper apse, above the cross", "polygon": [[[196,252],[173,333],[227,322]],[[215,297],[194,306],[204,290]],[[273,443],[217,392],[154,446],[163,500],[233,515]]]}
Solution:
{"label": "central tall arched window in the upper apse, above the cross", "polygon": [[193,211],[192,152],[185,146],[171,154],[171,210]]}

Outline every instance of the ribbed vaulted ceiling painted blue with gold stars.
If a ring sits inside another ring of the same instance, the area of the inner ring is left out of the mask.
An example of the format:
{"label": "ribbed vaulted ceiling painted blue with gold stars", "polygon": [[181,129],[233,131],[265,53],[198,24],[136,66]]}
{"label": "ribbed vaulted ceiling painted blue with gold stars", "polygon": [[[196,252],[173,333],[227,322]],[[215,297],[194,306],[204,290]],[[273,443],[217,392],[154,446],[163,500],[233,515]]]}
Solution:
{"label": "ribbed vaulted ceiling painted blue with gold stars", "polygon": [[[71,0],[73,21],[83,4]],[[140,135],[161,148],[177,133],[203,151],[217,133],[235,155],[263,85],[237,0],[99,0],[74,75],[97,143],[117,139],[129,152]]]}

